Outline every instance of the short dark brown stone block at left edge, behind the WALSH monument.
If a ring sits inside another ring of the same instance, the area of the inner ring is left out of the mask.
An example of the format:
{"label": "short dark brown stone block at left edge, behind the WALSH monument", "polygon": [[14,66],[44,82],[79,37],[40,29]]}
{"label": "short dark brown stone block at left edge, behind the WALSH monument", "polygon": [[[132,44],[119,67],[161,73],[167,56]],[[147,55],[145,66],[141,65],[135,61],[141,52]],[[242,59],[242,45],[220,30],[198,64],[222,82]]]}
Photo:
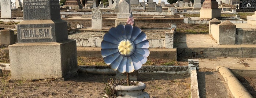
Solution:
{"label": "short dark brown stone block at left edge, behind the WALSH monument", "polygon": [[14,44],[14,31],[12,30],[2,30],[0,36],[1,45],[11,45]]}

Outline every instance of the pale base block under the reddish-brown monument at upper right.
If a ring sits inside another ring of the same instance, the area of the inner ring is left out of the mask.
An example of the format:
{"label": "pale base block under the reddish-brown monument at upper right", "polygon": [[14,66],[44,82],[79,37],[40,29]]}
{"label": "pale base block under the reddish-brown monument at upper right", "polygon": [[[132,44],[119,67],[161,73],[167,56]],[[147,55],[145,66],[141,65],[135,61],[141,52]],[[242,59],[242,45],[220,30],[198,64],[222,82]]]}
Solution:
{"label": "pale base block under the reddish-brown monument at upper right", "polygon": [[201,9],[200,19],[213,19],[220,17],[220,9]]}

